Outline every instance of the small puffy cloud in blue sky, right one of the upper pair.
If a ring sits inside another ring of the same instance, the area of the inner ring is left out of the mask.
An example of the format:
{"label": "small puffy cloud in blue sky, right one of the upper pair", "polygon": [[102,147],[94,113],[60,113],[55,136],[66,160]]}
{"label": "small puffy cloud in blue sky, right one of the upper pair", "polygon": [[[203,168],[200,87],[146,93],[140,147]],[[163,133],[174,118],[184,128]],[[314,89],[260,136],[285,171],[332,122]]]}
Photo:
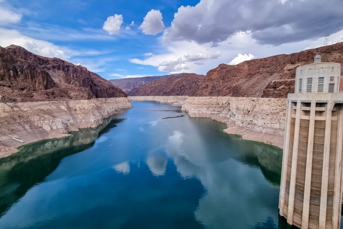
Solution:
{"label": "small puffy cloud in blue sky, right one of the upper pair", "polygon": [[164,29],[162,13],[159,10],[151,10],[144,17],[143,23],[139,26],[144,34],[156,35]]}

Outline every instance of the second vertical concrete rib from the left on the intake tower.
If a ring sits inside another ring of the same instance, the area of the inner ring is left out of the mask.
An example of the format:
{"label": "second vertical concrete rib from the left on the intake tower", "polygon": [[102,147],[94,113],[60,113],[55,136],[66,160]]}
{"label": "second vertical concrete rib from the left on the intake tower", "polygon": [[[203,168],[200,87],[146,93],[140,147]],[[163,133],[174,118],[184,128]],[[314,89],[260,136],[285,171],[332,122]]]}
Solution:
{"label": "second vertical concrete rib from the left on the intake tower", "polygon": [[300,113],[301,113],[301,103],[300,103],[300,100],[298,100],[297,101],[297,110],[296,110],[296,115],[295,115],[295,129],[294,129],[293,155],[292,155],[292,167],[291,167],[292,168],[292,170],[291,170],[291,181],[289,184],[289,200],[288,200],[288,213],[287,213],[288,224],[293,224],[295,180],[296,180],[297,162],[298,162]]}

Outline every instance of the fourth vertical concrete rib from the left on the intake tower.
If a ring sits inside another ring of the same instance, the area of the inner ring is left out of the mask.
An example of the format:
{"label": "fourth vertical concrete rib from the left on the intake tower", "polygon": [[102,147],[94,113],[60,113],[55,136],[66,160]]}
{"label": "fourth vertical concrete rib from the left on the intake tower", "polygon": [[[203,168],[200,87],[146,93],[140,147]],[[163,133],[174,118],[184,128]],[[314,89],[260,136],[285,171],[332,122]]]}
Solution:
{"label": "fourth vertical concrete rib from the left on the intake tower", "polygon": [[334,103],[328,102],[326,111],[324,153],[323,153],[323,172],[320,192],[320,209],[319,209],[319,229],[325,229],[326,208],[328,201],[328,177],[329,177],[329,156],[330,156],[330,138],[331,138],[331,115]]}

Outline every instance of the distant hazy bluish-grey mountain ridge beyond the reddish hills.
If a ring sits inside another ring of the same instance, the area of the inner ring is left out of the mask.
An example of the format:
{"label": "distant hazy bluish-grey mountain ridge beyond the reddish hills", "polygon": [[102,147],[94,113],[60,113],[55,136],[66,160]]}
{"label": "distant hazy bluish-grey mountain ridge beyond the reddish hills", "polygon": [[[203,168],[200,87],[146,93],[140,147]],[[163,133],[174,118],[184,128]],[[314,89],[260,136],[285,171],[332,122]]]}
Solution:
{"label": "distant hazy bluish-grey mountain ridge beyond the reddish hills", "polygon": [[177,76],[179,74],[163,75],[163,76],[146,76],[146,77],[135,77],[135,78],[125,78],[125,79],[113,79],[109,80],[118,88],[122,89],[125,93],[128,93],[134,88],[142,87],[146,83],[150,83],[153,80],[166,78],[169,76]]}

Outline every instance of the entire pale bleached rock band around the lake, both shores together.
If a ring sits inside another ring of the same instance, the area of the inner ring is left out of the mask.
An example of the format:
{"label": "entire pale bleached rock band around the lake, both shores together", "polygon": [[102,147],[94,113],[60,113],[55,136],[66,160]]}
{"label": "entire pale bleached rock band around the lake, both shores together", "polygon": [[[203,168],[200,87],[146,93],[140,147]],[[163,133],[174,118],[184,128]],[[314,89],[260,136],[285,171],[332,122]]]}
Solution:
{"label": "entire pale bleached rock band around the lake, both shores together", "polygon": [[[208,117],[224,122],[229,134],[283,148],[286,99],[243,97],[130,96],[46,102],[0,102],[0,158],[35,141],[68,136],[79,128],[97,127],[104,118],[130,101],[156,101],[182,106],[191,117]],[[15,141],[18,136],[24,142]]]}

